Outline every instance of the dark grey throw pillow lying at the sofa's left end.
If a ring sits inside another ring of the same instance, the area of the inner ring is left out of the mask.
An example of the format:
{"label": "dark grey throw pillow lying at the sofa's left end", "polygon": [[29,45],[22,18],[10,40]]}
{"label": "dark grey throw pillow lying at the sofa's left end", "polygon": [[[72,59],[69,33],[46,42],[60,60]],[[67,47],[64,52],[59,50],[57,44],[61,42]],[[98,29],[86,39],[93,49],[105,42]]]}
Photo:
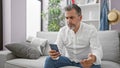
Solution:
{"label": "dark grey throw pillow lying at the sofa's left end", "polygon": [[40,57],[40,52],[30,43],[11,43],[5,45],[15,56],[20,58],[37,59]]}

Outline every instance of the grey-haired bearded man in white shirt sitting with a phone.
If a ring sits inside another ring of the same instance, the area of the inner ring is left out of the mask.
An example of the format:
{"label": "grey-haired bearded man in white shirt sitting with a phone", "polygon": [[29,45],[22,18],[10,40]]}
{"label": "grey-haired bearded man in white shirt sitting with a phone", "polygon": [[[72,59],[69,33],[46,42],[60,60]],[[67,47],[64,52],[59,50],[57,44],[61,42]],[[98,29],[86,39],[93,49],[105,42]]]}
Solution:
{"label": "grey-haired bearded man in white shirt sitting with a phone", "polygon": [[60,29],[56,40],[60,53],[49,51],[44,68],[101,68],[103,53],[96,28],[81,22],[81,8],[75,4],[65,7],[65,17],[67,25]]}

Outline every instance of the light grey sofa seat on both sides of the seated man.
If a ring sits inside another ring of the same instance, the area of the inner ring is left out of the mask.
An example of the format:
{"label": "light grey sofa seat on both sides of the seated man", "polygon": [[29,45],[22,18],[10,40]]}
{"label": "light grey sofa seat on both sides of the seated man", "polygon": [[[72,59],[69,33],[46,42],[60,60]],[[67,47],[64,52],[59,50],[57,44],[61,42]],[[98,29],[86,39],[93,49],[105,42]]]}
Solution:
{"label": "light grey sofa seat on both sides of the seated man", "polygon": [[[13,59],[5,63],[5,68],[44,68],[45,59],[47,56],[42,56],[39,59]],[[61,68],[79,68],[74,66],[65,66]],[[101,68],[120,68],[120,64],[112,61],[102,61]]]}

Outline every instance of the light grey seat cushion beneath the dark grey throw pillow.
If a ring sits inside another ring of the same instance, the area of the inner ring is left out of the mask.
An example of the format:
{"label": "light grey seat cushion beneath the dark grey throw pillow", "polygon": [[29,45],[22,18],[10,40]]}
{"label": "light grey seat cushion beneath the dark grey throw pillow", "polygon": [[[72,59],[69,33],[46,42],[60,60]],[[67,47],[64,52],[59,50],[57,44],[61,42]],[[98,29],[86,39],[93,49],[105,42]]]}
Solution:
{"label": "light grey seat cushion beneath the dark grey throw pillow", "polygon": [[16,66],[13,68],[21,67],[21,68],[44,68],[46,56],[41,56],[39,59],[13,59],[8,60],[5,63],[5,67],[9,68],[9,66]]}

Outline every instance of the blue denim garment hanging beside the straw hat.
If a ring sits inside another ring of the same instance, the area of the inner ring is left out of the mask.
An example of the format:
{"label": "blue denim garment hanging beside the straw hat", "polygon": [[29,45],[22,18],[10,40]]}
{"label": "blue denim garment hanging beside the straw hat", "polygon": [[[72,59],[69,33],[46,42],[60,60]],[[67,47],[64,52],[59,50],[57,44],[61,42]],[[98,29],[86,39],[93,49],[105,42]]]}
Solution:
{"label": "blue denim garment hanging beside the straw hat", "polygon": [[109,30],[109,23],[108,23],[108,0],[102,0],[101,2],[101,13],[100,13],[100,30]]}

